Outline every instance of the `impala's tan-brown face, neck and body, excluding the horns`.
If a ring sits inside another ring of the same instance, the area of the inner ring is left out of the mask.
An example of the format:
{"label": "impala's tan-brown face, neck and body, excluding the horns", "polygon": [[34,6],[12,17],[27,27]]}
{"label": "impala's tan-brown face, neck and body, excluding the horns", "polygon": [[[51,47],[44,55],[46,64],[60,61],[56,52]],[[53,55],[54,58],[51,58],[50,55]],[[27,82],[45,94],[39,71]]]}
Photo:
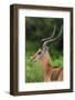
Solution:
{"label": "impala's tan-brown face, neck and body, excluding the horns", "polygon": [[44,81],[62,81],[63,68],[52,66],[49,51],[43,54],[39,54],[38,52],[32,57],[32,60],[39,59],[41,61]]}

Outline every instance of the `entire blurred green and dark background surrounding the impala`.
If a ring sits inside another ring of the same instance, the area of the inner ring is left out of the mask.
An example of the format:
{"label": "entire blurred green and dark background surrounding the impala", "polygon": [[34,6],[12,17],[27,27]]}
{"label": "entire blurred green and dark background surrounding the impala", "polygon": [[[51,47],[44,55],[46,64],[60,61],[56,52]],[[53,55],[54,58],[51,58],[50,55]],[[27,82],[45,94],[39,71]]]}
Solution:
{"label": "entire blurred green and dark background surrounding the impala", "polygon": [[[42,46],[41,39],[49,38],[56,24],[55,37],[63,26],[63,19],[25,17],[25,82],[43,82],[42,67],[39,61],[32,62],[31,56]],[[63,67],[63,33],[54,42],[49,43],[52,64]]]}

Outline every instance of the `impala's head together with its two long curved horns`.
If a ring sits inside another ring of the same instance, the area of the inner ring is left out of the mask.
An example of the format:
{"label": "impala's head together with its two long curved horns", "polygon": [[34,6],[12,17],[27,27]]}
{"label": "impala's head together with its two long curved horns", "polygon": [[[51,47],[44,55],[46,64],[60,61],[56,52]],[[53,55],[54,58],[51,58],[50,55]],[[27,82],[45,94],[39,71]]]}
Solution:
{"label": "impala's head together with its two long curved horns", "polygon": [[34,54],[31,57],[31,60],[32,60],[32,61],[43,60],[43,59],[49,59],[49,58],[50,58],[47,43],[49,43],[49,42],[52,42],[52,41],[55,41],[56,39],[60,38],[60,36],[62,34],[62,27],[61,27],[61,31],[60,31],[58,36],[55,37],[55,38],[53,38],[53,37],[55,36],[55,30],[56,30],[56,26],[54,24],[54,30],[53,30],[52,36],[49,37],[49,38],[42,39],[43,44],[42,44],[42,47],[38,50],[38,52],[34,53]]}

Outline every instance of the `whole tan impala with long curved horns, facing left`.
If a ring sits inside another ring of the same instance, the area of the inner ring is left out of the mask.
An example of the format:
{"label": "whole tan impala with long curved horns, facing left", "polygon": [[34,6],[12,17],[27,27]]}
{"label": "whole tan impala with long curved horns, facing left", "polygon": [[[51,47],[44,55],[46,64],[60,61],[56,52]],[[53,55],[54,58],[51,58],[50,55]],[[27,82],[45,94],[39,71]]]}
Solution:
{"label": "whole tan impala with long curved horns, facing left", "polygon": [[32,61],[40,60],[43,69],[43,77],[44,81],[62,81],[63,80],[63,68],[62,67],[53,67],[51,63],[51,56],[49,53],[47,43],[54,41],[60,38],[62,34],[62,27],[61,31],[57,37],[53,38],[55,34],[56,26],[54,26],[54,31],[50,38],[42,39],[43,46],[31,57]]}

